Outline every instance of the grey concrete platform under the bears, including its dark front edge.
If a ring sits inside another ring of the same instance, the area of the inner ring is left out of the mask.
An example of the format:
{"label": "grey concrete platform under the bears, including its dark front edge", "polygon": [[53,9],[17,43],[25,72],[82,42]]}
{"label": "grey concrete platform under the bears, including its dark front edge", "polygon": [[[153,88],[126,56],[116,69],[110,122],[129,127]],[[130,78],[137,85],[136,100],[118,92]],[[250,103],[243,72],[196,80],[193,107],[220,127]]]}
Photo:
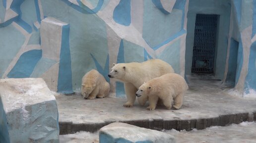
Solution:
{"label": "grey concrete platform under the bears, including its dark front edge", "polygon": [[123,107],[126,99],[85,100],[81,95],[56,94],[60,134],[95,132],[112,122],[155,130],[190,131],[256,120],[256,98],[232,95],[234,92],[222,87],[218,80],[189,78],[189,87],[179,110],[157,106],[154,111],[148,111],[147,105],[139,106],[137,101],[133,107],[126,108]]}

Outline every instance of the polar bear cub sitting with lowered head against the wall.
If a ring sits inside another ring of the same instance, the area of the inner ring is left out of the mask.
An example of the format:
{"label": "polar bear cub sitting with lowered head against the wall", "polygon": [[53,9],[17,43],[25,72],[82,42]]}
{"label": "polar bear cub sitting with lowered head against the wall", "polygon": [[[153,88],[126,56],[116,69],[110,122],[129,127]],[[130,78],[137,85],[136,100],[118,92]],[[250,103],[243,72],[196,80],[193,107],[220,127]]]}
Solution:
{"label": "polar bear cub sitting with lowered head against the wall", "polygon": [[109,91],[109,83],[97,70],[92,69],[83,76],[81,94],[84,99],[103,98]]}

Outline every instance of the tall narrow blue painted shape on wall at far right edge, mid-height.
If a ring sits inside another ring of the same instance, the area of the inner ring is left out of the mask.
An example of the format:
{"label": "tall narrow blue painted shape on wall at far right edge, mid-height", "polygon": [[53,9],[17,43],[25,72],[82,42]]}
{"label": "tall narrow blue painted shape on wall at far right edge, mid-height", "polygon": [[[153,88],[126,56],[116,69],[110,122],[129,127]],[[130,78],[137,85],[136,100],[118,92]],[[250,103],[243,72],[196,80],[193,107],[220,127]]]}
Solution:
{"label": "tall narrow blue painted shape on wall at far right edge, mid-height", "polygon": [[245,82],[245,92],[249,94],[249,90],[256,90],[256,42],[254,42],[250,49],[248,73]]}

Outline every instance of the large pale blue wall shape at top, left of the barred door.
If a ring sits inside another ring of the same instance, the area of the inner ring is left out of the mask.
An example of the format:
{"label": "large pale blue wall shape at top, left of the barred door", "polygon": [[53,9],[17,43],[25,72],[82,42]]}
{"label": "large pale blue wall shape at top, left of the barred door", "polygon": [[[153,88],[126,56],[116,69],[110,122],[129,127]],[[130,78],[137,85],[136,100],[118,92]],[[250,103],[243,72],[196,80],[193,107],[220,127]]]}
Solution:
{"label": "large pale blue wall shape at top, left of the barred door", "polygon": [[[181,0],[176,0],[174,6],[177,7],[182,3],[179,1]],[[150,48],[156,50],[179,34],[186,33],[182,25],[183,16],[184,10],[174,8],[170,14],[166,15],[157,9],[151,0],[144,0],[143,39]]]}

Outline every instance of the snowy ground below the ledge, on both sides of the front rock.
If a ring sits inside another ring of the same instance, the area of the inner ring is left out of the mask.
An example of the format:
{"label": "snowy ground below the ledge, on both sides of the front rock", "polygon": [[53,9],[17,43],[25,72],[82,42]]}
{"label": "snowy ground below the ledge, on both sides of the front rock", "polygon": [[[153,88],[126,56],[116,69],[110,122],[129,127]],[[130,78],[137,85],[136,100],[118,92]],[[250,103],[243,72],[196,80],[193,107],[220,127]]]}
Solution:
{"label": "snowy ground below the ledge, on both sides of the front rock", "polygon": [[[163,131],[173,135],[177,143],[256,143],[256,122],[242,122],[226,127],[214,126],[204,130]],[[60,135],[60,143],[99,143],[98,133],[78,132]]]}

